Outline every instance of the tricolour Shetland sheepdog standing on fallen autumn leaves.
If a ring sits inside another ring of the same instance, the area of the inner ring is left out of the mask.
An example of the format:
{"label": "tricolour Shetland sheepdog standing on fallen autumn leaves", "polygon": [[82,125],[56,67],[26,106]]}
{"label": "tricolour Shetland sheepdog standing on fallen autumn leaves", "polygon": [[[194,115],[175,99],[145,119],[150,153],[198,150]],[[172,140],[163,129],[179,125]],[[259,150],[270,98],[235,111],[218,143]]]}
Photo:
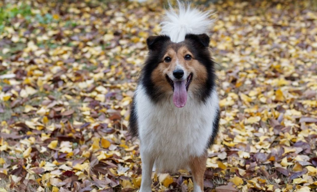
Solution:
{"label": "tricolour Shetland sheepdog standing on fallen autumn leaves", "polygon": [[194,192],[204,191],[207,149],[218,133],[219,102],[209,36],[210,11],[178,2],[166,11],[162,35],[149,49],[131,104],[129,130],[140,140],[140,192],[157,172],[190,169]]}

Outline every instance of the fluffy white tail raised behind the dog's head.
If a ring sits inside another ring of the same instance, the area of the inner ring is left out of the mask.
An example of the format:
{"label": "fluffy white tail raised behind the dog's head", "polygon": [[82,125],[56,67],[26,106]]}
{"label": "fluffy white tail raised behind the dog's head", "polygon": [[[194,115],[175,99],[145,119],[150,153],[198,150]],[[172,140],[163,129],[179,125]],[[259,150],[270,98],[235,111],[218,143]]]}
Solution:
{"label": "fluffy white tail raised behind the dog's head", "polygon": [[210,19],[211,11],[200,11],[191,8],[177,0],[178,11],[174,10],[169,3],[169,10],[166,10],[164,21],[160,23],[161,33],[168,35],[172,42],[181,42],[185,40],[186,34],[209,33],[213,20]]}

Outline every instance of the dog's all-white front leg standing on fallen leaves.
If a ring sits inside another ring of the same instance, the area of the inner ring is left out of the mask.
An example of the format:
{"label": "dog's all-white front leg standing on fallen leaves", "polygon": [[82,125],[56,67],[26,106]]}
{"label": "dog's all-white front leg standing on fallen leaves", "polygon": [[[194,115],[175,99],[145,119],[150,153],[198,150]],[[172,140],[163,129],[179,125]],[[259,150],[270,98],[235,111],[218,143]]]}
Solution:
{"label": "dog's all-white front leg standing on fallen leaves", "polygon": [[152,185],[152,168],[154,164],[154,158],[151,154],[141,150],[142,161],[142,180],[141,188],[139,192],[151,192]]}

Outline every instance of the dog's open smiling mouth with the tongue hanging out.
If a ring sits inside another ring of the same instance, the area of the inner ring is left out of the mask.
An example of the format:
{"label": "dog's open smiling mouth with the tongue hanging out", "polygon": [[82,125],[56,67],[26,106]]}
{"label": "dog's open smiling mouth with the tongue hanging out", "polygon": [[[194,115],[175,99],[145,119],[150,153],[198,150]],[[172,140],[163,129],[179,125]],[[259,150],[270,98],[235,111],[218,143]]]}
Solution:
{"label": "dog's open smiling mouth with the tongue hanging out", "polygon": [[184,107],[187,101],[187,91],[191,84],[193,74],[189,74],[187,79],[173,81],[166,75],[167,81],[171,84],[173,89],[173,103],[176,107]]}

